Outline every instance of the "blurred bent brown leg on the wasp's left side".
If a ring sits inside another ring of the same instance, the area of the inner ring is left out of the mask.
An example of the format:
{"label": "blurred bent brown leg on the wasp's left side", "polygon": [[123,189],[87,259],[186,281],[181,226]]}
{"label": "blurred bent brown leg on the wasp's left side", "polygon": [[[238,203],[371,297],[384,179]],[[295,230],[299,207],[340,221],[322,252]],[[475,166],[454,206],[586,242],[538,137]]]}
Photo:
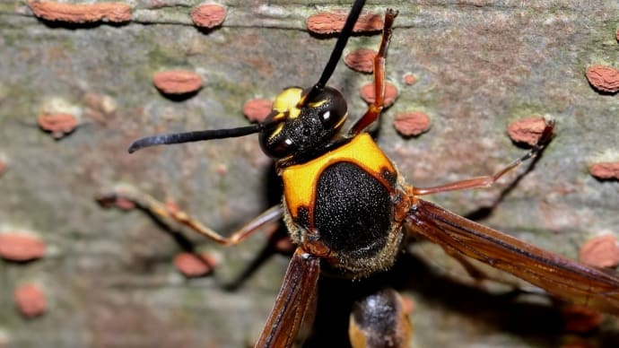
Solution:
{"label": "blurred bent brown leg on the wasp's left side", "polygon": [[241,240],[248,238],[253,232],[260,230],[269,223],[277,222],[283,216],[282,206],[274,205],[264,213],[259,214],[238,231],[234,231],[229,237],[223,237],[221,234],[192,218],[188,213],[179,209],[170,208],[170,206],[161,203],[153,196],[149,196],[132,187],[116,187],[112,192],[98,195],[96,199],[100,204],[110,204],[112,202],[118,202],[118,200],[132,202],[161,219],[178,222],[206,238],[212,239],[225,246],[239,243]]}

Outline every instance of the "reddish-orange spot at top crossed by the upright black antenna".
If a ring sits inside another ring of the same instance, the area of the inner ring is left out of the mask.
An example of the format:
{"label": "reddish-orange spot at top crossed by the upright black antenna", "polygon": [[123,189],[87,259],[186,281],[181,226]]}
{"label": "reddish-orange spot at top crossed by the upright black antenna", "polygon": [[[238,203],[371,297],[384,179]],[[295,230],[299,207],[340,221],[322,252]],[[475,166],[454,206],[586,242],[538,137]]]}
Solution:
{"label": "reddish-orange spot at top crossed by the upright black antenna", "polygon": [[[309,16],[306,25],[309,31],[328,35],[342,31],[346,22],[346,13],[316,13]],[[382,30],[385,23],[382,16],[376,13],[362,13],[359,20],[354,24],[354,32],[371,32]]]}

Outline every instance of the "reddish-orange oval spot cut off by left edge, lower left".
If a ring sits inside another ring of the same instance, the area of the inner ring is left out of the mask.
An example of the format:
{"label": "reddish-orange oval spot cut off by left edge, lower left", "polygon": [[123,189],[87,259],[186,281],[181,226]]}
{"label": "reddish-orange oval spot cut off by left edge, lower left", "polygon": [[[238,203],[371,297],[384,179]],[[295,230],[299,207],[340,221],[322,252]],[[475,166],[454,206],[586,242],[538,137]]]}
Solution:
{"label": "reddish-orange oval spot cut off by left edge, lower left", "polygon": [[0,257],[11,261],[31,261],[45,255],[42,240],[23,233],[0,234]]}

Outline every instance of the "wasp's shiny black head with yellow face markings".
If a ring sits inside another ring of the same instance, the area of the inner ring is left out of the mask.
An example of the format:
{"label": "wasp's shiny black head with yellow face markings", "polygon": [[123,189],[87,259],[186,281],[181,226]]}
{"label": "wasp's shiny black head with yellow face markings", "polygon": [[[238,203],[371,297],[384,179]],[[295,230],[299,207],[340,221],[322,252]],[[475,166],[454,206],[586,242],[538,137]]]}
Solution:
{"label": "wasp's shiny black head with yellow face markings", "polygon": [[260,145],[267,155],[275,159],[309,157],[330,144],[344,124],[347,106],[339,91],[325,87],[300,105],[308,91],[291,87],[275,98],[275,112],[264,122],[269,126],[260,132]]}

